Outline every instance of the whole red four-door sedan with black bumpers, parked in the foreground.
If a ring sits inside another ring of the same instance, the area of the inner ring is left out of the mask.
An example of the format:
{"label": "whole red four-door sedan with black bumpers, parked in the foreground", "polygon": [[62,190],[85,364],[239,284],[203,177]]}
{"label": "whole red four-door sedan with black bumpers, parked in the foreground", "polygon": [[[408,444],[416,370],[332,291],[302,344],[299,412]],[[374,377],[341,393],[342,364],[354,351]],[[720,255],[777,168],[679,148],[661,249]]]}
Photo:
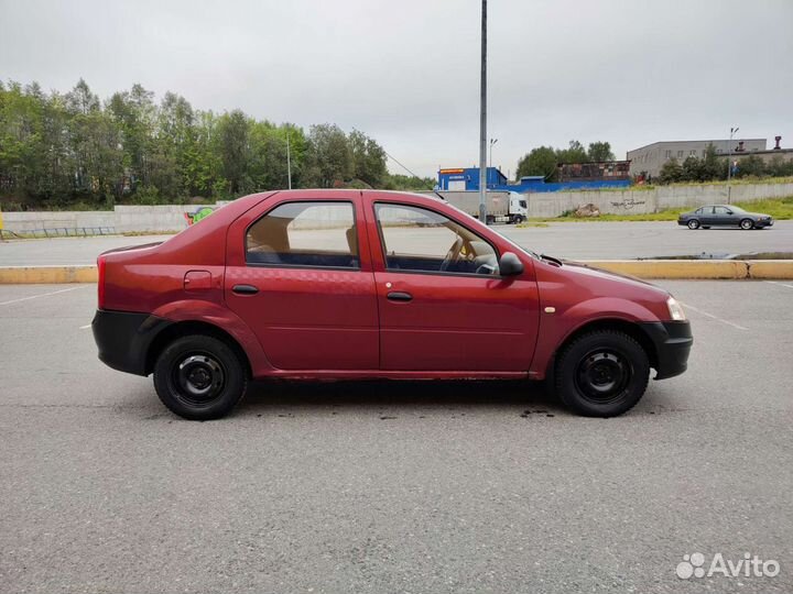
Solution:
{"label": "whole red four-door sedan with black bumpers, parked in the foreground", "polygon": [[548,378],[609,417],[686,369],[665,290],[526,251],[442,199],[292,190],[235,200],[98,258],[99,359],[188,419],[251,380]]}

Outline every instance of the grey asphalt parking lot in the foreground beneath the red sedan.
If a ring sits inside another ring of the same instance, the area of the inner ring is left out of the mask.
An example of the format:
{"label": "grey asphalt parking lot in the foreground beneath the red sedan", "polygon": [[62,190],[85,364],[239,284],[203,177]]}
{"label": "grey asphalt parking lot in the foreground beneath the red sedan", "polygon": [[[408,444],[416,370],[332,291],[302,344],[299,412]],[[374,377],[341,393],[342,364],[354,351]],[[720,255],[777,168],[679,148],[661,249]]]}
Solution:
{"label": "grey asphalt parking lot in the foreground beneath the red sedan", "polygon": [[[662,285],[691,366],[620,418],[260,383],[211,422],[96,359],[94,286],[0,286],[0,592],[791,592],[793,283]],[[695,552],[781,571],[681,580]]]}

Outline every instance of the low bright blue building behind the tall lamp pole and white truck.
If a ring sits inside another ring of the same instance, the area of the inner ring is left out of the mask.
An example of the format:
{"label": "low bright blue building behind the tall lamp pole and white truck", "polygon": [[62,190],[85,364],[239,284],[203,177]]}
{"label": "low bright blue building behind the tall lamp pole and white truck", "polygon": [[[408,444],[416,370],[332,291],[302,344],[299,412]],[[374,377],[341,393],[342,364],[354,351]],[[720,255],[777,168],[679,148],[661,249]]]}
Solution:
{"label": "low bright blue building behind the tall lamp pole and white truck", "polygon": [[[488,167],[486,173],[487,189],[492,191],[560,191],[569,189],[599,189],[599,188],[626,188],[630,186],[630,179],[589,179],[568,180],[547,184],[542,175],[529,175],[521,177],[514,184],[510,184],[507,176],[498,167]],[[457,167],[438,170],[438,190],[447,191],[479,191],[479,167]]]}

